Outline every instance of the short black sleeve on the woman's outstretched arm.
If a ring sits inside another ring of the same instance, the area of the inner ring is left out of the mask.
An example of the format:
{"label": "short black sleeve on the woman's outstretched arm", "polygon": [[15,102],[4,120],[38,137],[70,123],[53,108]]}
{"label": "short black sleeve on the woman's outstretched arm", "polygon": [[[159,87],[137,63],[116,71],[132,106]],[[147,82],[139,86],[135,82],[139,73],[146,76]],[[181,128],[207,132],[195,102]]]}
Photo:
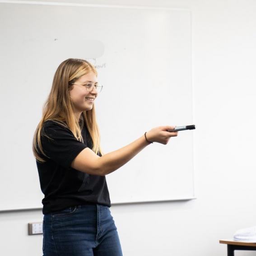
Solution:
{"label": "short black sleeve on the woman's outstretched arm", "polygon": [[74,158],[83,149],[87,148],[83,142],[74,137],[68,128],[53,121],[47,121],[44,124],[41,142],[43,151],[47,157],[64,168],[70,168]]}

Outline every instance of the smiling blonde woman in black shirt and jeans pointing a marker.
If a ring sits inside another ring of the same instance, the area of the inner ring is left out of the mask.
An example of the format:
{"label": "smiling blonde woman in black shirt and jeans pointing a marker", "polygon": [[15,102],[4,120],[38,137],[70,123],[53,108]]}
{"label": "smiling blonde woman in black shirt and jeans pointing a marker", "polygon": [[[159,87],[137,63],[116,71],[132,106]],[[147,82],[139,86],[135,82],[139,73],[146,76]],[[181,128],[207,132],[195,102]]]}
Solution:
{"label": "smiling blonde woman in black shirt and jeans pointing a marker", "polygon": [[149,130],[125,147],[103,154],[94,102],[102,85],[82,59],[57,68],[33,138],[42,200],[44,256],[122,256],[110,212],[106,175],[147,145],[167,144],[175,126]]}

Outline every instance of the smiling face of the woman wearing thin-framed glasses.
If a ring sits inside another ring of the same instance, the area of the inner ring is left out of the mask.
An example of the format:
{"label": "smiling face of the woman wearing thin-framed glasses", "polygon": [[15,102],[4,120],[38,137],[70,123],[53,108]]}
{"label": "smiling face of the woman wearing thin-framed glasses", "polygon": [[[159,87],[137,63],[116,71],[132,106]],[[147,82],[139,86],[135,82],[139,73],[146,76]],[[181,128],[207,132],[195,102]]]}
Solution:
{"label": "smiling face of the woman wearing thin-framed glasses", "polygon": [[[87,88],[83,84],[93,83],[92,91],[87,91]],[[94,84],[98,82],[97,77],[93,72],[84,74],[73,84],[73,88],[70,91],[70,98],[74,104],[75,111],[77,114],[81,114],[85,110],[91,110],[95,98],[98,96],[97,90],[94,87]],[[91,99],[87,99],[91,98]]]}

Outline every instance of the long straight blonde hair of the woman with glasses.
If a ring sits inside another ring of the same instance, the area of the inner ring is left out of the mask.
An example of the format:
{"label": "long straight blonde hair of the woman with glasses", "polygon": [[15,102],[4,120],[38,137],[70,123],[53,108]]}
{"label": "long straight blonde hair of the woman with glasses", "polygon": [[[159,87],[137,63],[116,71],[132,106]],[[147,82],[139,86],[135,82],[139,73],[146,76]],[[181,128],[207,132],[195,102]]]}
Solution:
{"label": "long straight blonde hair of the woman with glasses", "polygon": [[[73,84],[82,75],[93,72],[98,76],[98,72],[95,67],[86,60],[83,59],[67,59],[58,66],[51,87],[51,92],[43,105],[42,119],[39,122],[37,129],[33,136],[33,154],[38,162],[45,163],[46,161],[39,156],[43,154],[42,143],[41,143],[41,131],[43,123],[47,120],[56,121],[62,126],[67,127],[71,130],[74,137],[77,140],[84,142],[81,135],[81,128],[79,121],[76,120],[74,115],[74,105],[70,100],[70,90],[73,88]],[[82,116],[83,115],[83,116]],[[96,121],[95,106],[88,111],[82,112],[82,117],[88,128],[88,132],[91,135],[93,141],[94,153],[103,155],[100,146],[100,132]],[[66,122],[66,124],[64,123]]]}

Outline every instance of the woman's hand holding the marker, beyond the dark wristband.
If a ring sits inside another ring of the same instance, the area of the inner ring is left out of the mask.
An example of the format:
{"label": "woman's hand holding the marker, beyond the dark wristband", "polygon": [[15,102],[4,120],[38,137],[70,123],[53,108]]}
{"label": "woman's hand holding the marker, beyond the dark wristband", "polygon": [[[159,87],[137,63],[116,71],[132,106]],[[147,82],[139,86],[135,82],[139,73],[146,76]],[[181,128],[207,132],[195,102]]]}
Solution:
{"label": "woman's hand holding the marker, beyond the dark wristband", "polygon": [[176,126],[158,126],[146,133],[146,137],[151,142],[158,142],[162,144],[167,144],[171,137],[176,137],[178,132],[170,132],[167,130],[173,130]]}

